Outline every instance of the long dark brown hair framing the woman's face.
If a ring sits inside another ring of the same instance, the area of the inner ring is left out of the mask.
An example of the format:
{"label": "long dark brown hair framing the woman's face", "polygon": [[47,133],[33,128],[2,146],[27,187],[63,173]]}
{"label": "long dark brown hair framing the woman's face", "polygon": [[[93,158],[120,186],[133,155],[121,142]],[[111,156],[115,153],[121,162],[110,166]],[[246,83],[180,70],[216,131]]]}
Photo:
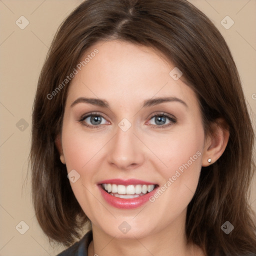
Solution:
{"label": "long dark brown hair framing the woman's face", "polygon": [[[224,118],[229,140],[222,156],[201,169],[187,208],[187,242],[199,245],[206,255],[256,255],[256,226],[247,201],[255,170],[254,134],[241,83],[220,32],[185,0],[86,0],[60,25],[39,76],[32,115],[32,198],[42,230],[70,245],[88,221],[54,144],[69,83],[52,99],[47,95],[88,47],[105,39],[157,49],[175,64],[197,95],[206,132],[217,118]],[[234,226],[228,235],[220,228],[226,220]]]}

